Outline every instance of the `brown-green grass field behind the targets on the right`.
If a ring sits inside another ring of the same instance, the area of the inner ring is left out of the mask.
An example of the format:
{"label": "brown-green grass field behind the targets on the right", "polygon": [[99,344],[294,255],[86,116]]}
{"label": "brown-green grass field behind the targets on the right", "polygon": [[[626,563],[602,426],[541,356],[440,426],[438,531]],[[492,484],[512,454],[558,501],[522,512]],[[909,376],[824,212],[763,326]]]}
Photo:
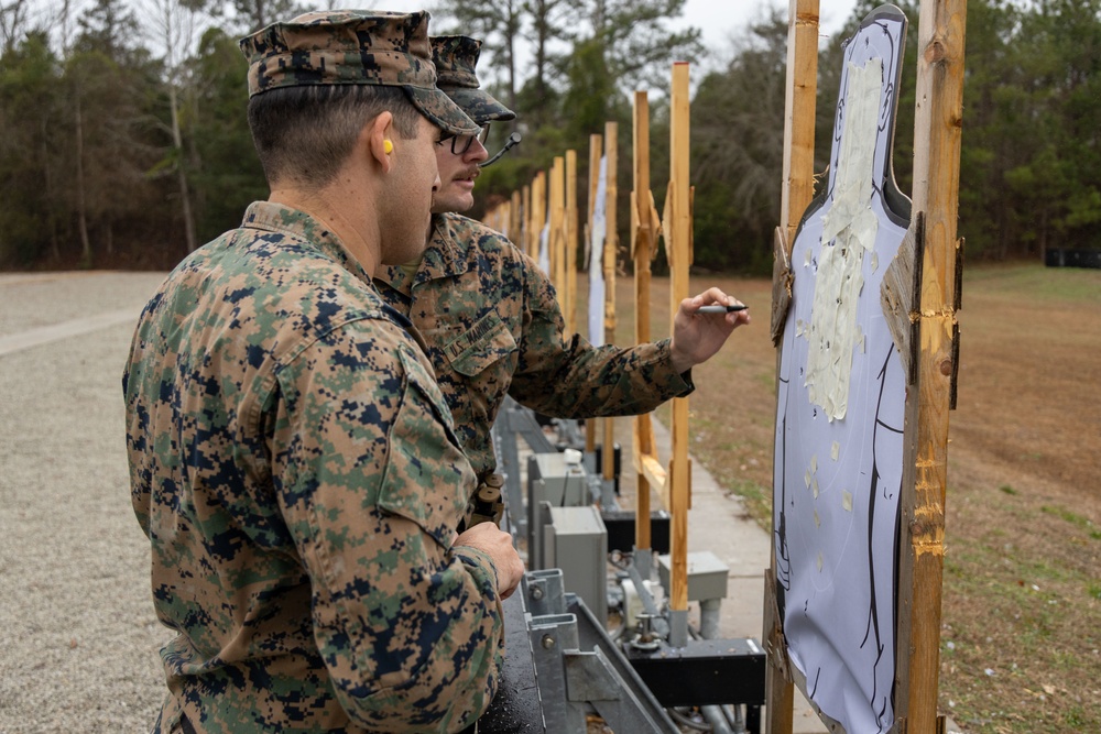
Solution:
{"label": "brown-green grass field behind the targets on the right", "polygon": [[[617,288],[617,343],[633,341],[632,285]],[[694,373],[690,450],[768,527],[771,284],[694,277],[691,292],[710,285],[754,321]],[[667,288],[654,278],[654,338]],[[962,295],[940,709],[968,733],[1101,732],[1101,271],[969,266]]]}

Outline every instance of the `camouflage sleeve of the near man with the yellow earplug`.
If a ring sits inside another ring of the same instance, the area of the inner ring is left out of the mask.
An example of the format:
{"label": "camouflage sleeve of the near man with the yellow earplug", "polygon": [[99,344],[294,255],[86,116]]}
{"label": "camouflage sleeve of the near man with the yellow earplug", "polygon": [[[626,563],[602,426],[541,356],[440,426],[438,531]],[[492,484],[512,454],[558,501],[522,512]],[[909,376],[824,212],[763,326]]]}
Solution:
{"label": "camouflage sleeve of the near man with the yellow earplug", "polygon": [[473,473],[414,349],[368,319],[279,375],[276,489],[310,578],[314,636],[341,705],[378,732],[469,725],[500,666],[495,570],[451,549]]}

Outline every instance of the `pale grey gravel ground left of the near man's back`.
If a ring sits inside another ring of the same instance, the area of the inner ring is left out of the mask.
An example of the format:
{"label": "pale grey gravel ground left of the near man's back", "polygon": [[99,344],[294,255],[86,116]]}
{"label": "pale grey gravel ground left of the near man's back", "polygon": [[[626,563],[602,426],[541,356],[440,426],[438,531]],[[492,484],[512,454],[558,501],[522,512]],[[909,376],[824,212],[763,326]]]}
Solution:
{"label": "pale grey gravel ground left of the near man's back", "polygon": [[[163,277],[0,274],[4,734],[145,732],[160,706],[171,635],[130,506],[120,379]],[[123,309],[131,319],[90,318]],[[76,333],[56,328],[74,322]]]}

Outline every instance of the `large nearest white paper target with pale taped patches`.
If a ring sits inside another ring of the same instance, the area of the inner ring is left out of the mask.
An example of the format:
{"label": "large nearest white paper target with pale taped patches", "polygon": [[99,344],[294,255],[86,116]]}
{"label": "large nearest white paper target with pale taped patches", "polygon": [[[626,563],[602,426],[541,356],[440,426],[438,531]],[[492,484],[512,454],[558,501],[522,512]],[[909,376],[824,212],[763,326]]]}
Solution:
{"label": "large nearest white paper target with pale taped patches", "polygon": [[846,46],[828,185],[793,248],[780,371],[777,602],[808,695],[850,734],[894,723],[906,375],[880,285],[909,218],[891,169],[905,34],[883,7]]}

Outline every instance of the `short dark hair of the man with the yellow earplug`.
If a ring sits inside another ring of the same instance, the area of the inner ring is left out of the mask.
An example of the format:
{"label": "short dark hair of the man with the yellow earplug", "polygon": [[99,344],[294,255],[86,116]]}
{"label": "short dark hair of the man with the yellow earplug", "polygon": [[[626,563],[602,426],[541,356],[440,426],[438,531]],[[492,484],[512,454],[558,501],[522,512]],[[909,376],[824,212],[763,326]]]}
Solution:
{"label": "short dark hair of the man with the yellow earplug", "polygon": [[331,183],[363,125],[388,110],[401,138],[416,138],[422,116],[402,87],[307,85],[254,95],[249,128],[268,184]]}

